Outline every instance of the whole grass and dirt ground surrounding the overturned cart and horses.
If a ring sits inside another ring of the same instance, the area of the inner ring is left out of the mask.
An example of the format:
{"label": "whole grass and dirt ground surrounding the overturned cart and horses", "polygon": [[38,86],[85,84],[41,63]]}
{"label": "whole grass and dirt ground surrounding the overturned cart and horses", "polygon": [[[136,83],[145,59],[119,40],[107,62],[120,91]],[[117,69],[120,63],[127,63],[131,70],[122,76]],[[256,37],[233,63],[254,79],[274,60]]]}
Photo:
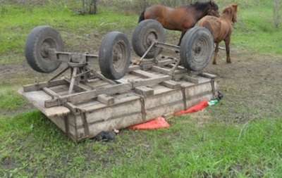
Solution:
{"label": "whole grass and dirt ground surrounding the overturned cart and horses", "polygon": [[[219,87],[226,92],[219,105],[173,117],[169,128],[123,129],[113,141],[75,144],[18,94],[23,84],[51,76],[25,62],[25,38],[33,27],[54,27],[66,51],[97,53],[106,32],[130,38],[145,7],[190,2],[98,0],[96,14],[81,15],[78,0],[0,0],[0,177],[281,177],[279,0],[216,1],[220,11],[239,4],[231,40],[238,63],[207,69],[220,75]],[[167,30],[166,36],[176,44],[180,32]]]}

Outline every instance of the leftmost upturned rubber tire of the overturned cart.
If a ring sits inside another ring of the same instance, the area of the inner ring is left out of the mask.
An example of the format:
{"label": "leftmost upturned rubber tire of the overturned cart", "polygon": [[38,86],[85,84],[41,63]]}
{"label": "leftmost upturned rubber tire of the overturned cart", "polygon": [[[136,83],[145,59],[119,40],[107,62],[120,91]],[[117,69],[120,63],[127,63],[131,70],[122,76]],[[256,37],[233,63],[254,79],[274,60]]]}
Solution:
{"label": "leftmost upturned rubber tire of the overturned cart", "polygon": [[64,51],[61,34],[47,25],[35,27],[25,40],[25,58],[30,67],[42,73],[53,72],[61,65],[61,61],[48,56],[47,48]]}

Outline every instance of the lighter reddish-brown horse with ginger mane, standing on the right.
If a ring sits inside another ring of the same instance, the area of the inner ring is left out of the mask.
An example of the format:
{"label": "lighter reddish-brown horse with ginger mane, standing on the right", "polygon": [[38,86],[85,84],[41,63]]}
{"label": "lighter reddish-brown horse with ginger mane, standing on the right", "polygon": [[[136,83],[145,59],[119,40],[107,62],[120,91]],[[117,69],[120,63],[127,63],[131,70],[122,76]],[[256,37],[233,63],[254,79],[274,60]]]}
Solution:
{"label": "lighter reddish-brown horse with ginger mane, standing on the right", "polygon": [[229,4],[224,8],[219,18],[208,15],[202,18],[197,24],[198,26],[206,27],[212,33],[212,37],[216,43],[213,64],[216,64],[219,42],[222,40],[225,42],[226,46],[226,62],[231,63],[229,44],[231,42],[232,23],[237,22],[237,6],[238,4]]}

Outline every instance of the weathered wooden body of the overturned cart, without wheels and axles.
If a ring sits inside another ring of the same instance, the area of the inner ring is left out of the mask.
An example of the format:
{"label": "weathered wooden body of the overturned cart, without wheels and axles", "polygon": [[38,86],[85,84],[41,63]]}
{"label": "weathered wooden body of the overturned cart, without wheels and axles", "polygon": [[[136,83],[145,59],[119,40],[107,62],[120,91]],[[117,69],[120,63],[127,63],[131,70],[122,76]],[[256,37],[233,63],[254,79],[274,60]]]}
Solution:
{"label": "weathered wooden body of the overturned cart, without wheels and axles", "polygon": [[188,109],[216,92],[214,75],[191,75],[173,68],[169,60],[155,65],[132,65],[121,80],[97,77],[73,87],[69,79],[29,84],[20,89],[33,105],[73,141],[92,138],[102,131],[123,129],[155,117]]}

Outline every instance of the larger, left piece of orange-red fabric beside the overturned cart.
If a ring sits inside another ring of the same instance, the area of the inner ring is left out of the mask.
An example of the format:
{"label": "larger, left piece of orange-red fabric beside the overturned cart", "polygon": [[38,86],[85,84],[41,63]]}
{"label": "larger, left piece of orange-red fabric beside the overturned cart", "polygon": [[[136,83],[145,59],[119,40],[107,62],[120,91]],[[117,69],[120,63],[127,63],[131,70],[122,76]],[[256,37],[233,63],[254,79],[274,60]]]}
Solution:
{"label": "larger, left piece of orange-red fabric beside the overturned cart", "polygon": [[158,129],[162,127],[169,127],[170,125],[164,117],[157,117],[154,120],[149,120],[148,122],[142,123],[140,125],[133,125],[129,127],[130,129]]}

